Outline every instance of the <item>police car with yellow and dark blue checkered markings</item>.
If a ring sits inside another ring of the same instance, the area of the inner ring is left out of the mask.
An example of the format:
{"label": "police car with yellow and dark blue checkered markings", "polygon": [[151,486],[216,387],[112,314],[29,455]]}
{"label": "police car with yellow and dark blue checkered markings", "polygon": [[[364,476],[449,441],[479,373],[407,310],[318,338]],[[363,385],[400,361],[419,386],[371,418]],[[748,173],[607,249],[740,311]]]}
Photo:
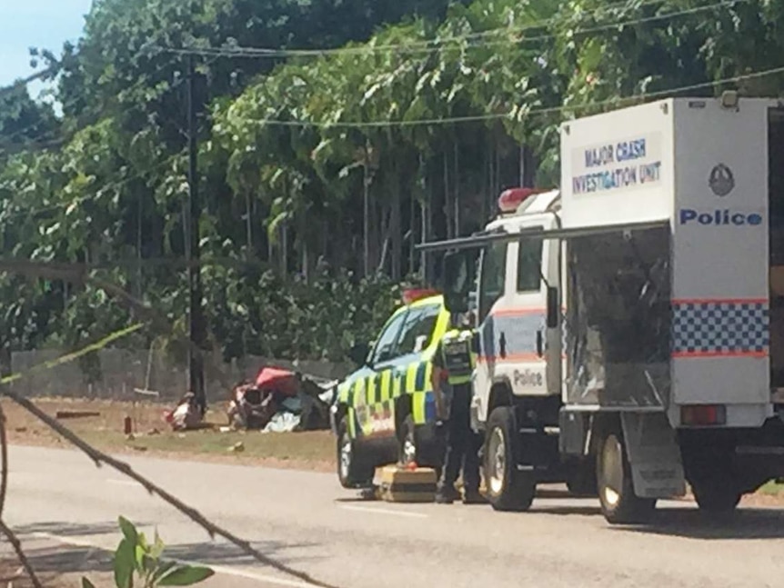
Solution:
{"label": "police car with yellow and dark blue checkered markings", "polygon": [[372,484],[377,467],[411,463],[438,468],[430,360],[449,328],[443,296],[407,291],[372,344],[350,353],[360,367],[337,384],[330,412],[337,436],[337,475],[345,488]]}

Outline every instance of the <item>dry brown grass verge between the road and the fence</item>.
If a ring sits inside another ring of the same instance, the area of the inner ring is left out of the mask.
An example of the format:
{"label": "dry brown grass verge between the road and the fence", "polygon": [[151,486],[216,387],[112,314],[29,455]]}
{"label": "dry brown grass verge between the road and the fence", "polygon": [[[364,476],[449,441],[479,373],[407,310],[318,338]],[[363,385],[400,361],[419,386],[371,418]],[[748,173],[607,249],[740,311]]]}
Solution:
{"label": "dry brown grass verge between the road and the fence", "polygon": [[[86,442],[111,452],[141,452],[163,456],[188,457],[233,463],[264,463],[317,471],[334,471],[335,441],[329,431],[301,433],[261,433],[258,431],[221,432],[226,426],[226,405],[214,404],[206,414],[206,428],[174,432],[163,421],[164,404],[131,404],[66,398],[42,398],[35,403],[47,414],[58,411],[95,411],[98,416],[62,419],[64,424]],[[5,399],[10,443],[45,446],[70,446],[60,435],[32,414]],[[124,433],[126,416],[133,419],[134,434]],[[237,451],[237,445],[240,451]]]}

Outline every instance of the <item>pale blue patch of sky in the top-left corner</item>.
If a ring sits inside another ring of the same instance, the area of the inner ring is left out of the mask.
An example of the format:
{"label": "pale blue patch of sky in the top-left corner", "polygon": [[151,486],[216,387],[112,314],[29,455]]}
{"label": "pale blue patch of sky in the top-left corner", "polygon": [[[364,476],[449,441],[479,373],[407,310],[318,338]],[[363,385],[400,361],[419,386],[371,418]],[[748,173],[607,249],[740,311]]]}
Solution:
{"label": "pale blue patch of sky in the top-left corner", "polygon": [[[35,74],[29,47],[51,49],[55,55],[65,41],[75,42],[93,0],[0,0],[0,86]],[[40,84],[29,85],[32,95]]]}

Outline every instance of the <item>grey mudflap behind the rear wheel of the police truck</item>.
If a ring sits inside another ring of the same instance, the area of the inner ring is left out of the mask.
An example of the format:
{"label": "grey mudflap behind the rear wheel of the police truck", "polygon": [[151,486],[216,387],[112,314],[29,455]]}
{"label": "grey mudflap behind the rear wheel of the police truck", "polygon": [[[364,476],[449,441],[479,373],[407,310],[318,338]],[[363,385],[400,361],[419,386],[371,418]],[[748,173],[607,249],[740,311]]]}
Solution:
{"label": "grey mudflap behind the rear wheel of the police truck", "polygon": [[665,413],[621,413],[634,493],[641,498],[686,494],[686,475],[675,431]]}

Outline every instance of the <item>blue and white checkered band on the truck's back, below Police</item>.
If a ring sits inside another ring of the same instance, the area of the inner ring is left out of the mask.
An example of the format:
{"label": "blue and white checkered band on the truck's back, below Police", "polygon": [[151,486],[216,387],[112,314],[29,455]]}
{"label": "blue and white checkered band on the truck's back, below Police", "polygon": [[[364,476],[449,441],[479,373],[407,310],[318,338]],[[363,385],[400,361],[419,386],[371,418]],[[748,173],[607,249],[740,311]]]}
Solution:
{"label": "blue and white checkered band on the truck's back, below Police", "polygon": [[767,301],[672,301],[673,356],[766,355],[769,339]]}

